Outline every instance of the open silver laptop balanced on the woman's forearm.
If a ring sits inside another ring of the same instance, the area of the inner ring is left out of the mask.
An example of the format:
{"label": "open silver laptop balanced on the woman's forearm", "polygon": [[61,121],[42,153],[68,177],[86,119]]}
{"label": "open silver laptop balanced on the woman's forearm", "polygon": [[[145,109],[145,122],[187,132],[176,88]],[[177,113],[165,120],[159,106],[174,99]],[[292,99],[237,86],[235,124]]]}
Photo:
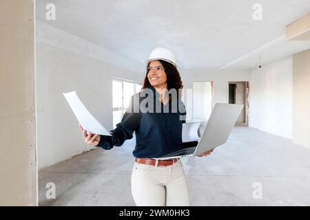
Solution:
{"label": "open silver laptop balanced on the woman's forearm", "polygon": [[180,151],[157,157],[156,159],[193,157],[225,144],[238,120],[242,108],[243,104],[216,103],[197,146],[184,148]]}

